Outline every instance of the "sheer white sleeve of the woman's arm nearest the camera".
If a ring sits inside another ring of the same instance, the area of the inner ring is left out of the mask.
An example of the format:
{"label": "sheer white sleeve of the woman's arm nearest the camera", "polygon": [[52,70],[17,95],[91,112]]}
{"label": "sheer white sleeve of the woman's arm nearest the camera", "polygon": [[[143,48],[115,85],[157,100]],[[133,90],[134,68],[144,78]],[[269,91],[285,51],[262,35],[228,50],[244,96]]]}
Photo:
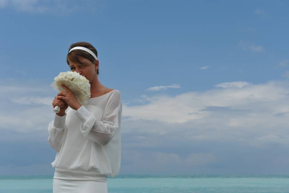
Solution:
{"label": "sheer white sleeve of the woman's arm nearest the camera", "polygon": [[80,131],[84,135],[84,138],[101,145],[108,144],[113,138],[114,133],[120,127],[120,108],[121,94],[117,91],[108,101],[100,121],[84,106],[77,109],[75,114],[83,123],[80,127]]}

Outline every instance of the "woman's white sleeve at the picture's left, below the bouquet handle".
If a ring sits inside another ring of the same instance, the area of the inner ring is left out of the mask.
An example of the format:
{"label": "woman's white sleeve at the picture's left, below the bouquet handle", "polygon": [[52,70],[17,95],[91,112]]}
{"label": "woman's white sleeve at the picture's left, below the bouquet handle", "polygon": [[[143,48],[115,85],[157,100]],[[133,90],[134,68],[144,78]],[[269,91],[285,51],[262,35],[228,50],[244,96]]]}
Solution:
{"label": "woman's white sleeve at the picture's left, below the bouquet handle", "polygon": [[48,142],[50,146],[59,151],[61,144],[65,141],[67,136],[67,129],[65,126],[66,113],[62,117],[55,114],[54,121],[51,121],[48,125]]}

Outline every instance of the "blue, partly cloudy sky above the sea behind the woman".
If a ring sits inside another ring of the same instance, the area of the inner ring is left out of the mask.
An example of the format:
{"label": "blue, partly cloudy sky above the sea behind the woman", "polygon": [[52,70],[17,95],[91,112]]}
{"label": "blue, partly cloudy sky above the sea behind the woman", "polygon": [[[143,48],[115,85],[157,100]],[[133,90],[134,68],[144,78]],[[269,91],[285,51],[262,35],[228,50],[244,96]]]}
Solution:
{"label": "blue, partly cloudy sky above the sea behind the woman", "polygon": [[0,0],[0,175],[53,175],[69,46],[122,96],[120,174],[289,174],[288,1]]}

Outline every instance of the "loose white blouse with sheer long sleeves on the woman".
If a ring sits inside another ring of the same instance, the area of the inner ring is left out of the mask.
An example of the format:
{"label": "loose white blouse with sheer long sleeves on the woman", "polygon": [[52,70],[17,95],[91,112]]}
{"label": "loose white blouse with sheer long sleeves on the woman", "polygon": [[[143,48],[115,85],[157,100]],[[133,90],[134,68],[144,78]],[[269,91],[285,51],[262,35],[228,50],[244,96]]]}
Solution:
{"label": "loose white blouse with sheer long sleeves on the woman", "polygon": [[62,117],[55,114],[48,125],[48,141],[57,152],[51,165],[64,172],[117,176],[121,162],[121,114],[119,90],[89,98],[88,104],[77,111],[68,107]]}

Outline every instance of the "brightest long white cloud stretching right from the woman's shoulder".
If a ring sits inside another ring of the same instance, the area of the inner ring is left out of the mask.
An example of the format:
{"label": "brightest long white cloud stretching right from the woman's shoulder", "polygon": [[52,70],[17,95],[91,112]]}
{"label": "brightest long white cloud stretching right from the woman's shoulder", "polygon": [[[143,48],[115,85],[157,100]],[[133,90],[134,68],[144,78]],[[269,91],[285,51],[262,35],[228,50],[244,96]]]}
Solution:
{"label": "brightest long white cloud stretching right from the woman's shoulder", "polygon": [[[205,119],[212,112],[208,106],[232,107],[234,109],[252,109],[253,111],[268,108],[268,112],[281,106],[278,102],[287,99],[286,87],[277,82],[250,85],[246,82],[222,83],[222,89],[204,92],[188,92],[177,96],[148,97],[148,104],[124,106],[123,113],[130,119],[157,120],[169,123],[185,123],[190,120]],[[267,103],[272,106],[268,107]],[[266,106],[264,106],[266,104]],[[275,109],[275,113],[278,110]]]}

